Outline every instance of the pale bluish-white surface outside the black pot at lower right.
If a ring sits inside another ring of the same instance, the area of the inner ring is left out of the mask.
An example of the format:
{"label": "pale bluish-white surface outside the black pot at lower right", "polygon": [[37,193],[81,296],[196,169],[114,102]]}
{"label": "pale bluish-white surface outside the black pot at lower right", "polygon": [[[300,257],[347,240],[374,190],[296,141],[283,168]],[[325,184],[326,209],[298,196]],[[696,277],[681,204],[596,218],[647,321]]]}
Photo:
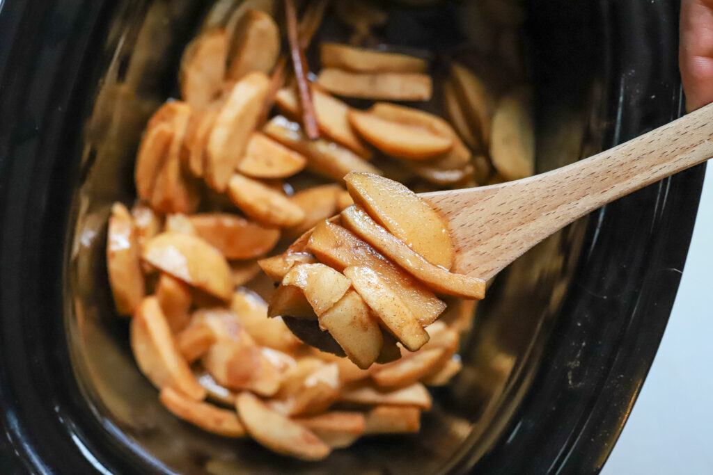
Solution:
{"label": "pale bluish-white surface outside the black pot at lower right", "polygon": [[713,474],[713,163],[661,346],[602,475]]}

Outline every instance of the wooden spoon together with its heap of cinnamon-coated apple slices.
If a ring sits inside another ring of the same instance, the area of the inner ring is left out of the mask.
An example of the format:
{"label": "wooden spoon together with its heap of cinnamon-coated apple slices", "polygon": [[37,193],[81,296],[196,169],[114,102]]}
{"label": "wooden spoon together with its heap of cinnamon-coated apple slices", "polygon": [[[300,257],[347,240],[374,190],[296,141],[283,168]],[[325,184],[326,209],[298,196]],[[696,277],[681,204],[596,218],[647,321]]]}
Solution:
{"label": "wooden spoon together with its heap of cinnamon-coated apple slices", "polygon": [[480,299],[486,280],[604,204],[713,157],[713,105],[580,162],[515,182],[414,194],[366,173],[344,178],[354,205],[260,266],[280,315],[305,343],[359,367],[431,338],[445,303]]}

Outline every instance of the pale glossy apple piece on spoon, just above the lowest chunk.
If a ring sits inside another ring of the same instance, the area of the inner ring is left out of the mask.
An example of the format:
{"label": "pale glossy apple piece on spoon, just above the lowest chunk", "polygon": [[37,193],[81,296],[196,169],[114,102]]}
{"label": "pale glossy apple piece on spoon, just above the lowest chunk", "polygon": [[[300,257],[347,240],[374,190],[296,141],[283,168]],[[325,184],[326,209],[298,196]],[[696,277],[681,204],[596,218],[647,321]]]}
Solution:
{"label": "pale glossy apple piece on spoon, just above the lowest chunk", "polygon": [[282,278],[282,286],[302,290],[318,317],[344,297],[351,285],[342,273],[322,263],[298,264]]}

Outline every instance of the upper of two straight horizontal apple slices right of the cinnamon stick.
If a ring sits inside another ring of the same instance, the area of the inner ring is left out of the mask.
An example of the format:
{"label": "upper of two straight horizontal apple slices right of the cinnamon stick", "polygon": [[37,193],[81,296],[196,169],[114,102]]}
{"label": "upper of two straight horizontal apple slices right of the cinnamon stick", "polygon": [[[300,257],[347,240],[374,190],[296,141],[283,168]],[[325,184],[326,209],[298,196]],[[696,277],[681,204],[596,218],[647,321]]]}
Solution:
{"label": "upper of two straight horizontal apple slices right of the cinnamon stick", "polygon": [[340,68],[358,73],[425,73],[425,60],[399,53],[386,53],[337,43],[321,43],[323,68]]}

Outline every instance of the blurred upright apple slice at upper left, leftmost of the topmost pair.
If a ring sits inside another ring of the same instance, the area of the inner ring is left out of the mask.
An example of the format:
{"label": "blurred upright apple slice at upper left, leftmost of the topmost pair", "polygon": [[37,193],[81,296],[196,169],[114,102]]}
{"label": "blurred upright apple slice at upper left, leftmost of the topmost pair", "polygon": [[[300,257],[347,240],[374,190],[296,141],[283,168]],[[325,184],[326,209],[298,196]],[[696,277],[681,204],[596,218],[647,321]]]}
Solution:
{"label": "blurred upright apple slice at upper left, leftmost of the topmost pair", "polygon": [[180,63],[181,97],[194,108],[205,108],[222,93],[227,36],[222,29],[201,34],[188,43]]}

